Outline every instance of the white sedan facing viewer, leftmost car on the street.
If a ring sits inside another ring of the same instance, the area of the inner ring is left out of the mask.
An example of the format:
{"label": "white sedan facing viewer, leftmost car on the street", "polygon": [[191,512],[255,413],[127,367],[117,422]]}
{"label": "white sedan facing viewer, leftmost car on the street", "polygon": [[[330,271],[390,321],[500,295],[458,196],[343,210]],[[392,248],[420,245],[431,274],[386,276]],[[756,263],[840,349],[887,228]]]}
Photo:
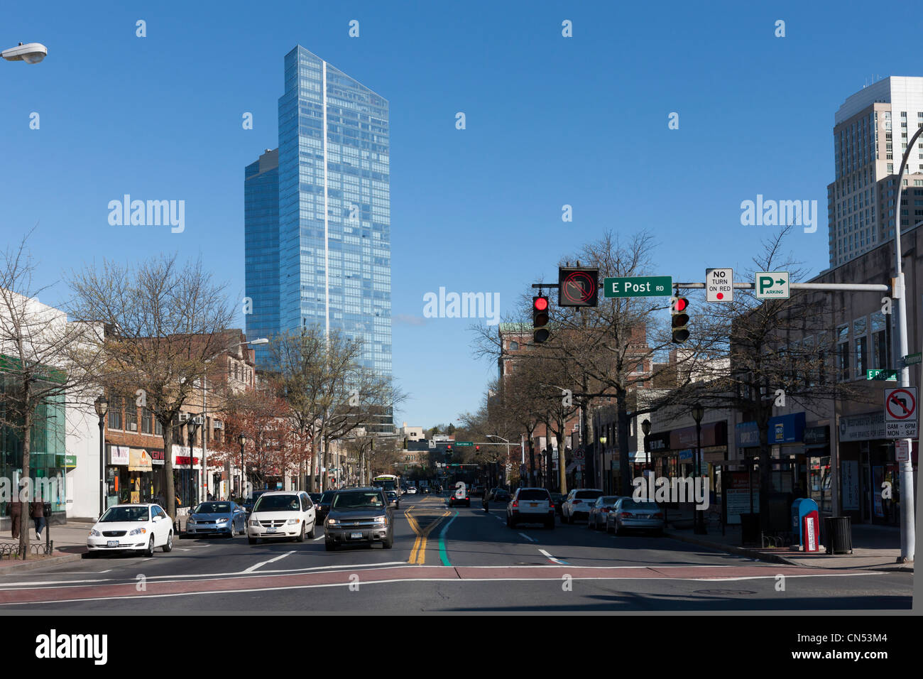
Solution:
{"label": "white sedan facing viewer, leftmost car on the street", "polygon": [[116,504],[90,528],[87,549],[100,552],[143,552],[153,556],[162,547],[173,550],[173,522],[159,504]]}

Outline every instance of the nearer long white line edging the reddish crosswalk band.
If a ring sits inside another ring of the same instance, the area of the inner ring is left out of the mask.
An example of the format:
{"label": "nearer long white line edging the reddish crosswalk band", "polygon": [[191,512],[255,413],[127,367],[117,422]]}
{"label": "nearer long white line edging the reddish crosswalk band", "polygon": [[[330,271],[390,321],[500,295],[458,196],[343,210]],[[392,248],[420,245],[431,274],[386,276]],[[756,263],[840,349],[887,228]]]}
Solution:
{"label": "nearer long white line edging the reddish crosswalk band", "polygon": [[[407,562],[401,562],[406,564]],[[447,566],[438,566],[439,568],[446,568]],[[487,566],[491,568],[509,568],[510,566]],[[516,566],[527,567],[527,566]],[[540,568],[558,568],[559,566],[539,566]],[[584,566],[579,566],[583,568]],[[638,568],[639,566],[631,566],[632,568]],[[864,573],[825,573],[817,575],[805,575],[805,576],[785,576],[785,577],[848,577],[848,576],[883,576],[889,573],[889,571],[869,571]],[[150,578],[149,578],[150,579]],[[457,583],[467,583],[467,582],[540,582],[545,580],[557,580],[557,576],[552,576],[550,578],[535,578],[535,577],[408,577],[408,578],[394,578],[389,580],[369,580],[364,582],[363,585],[388,585],[391,583],[402,583],[402,582],[457,582]],[[769,580],[775,579],[775,576],[745,576],[745,577],[716,577],[716,578],[701,578],[701,577],[585,577],[585,576],[573,576],[575,580],[686,580],[686,581],[698,581],[702,582],[720,582],[724,580]],[[170,594],[129,594],[127,596],[121,597],[91,597],[88,599],[60,599],[54,601],[6,601],[0,602],[0,606],[22,606],[30,605],[34,606],[36,604],[42,603],[79,603],[82,601],[108,601],[108,600],[117,600],[117,599],[167,599],[173,597],[190,597],[196,596],[199,594],[246,594],[248,592],[271,592],[271,591],[281,591],[282,589],[316,589],[316,588],[329,588],[329,587],[349,587],[353,583],[351,582],[332,582],[324,585],[286,585],[283,587],[268,587],[268,588],[254,588],[254,589],[219,589],[214,591],[203,591],[203,592],[173,592]]]}

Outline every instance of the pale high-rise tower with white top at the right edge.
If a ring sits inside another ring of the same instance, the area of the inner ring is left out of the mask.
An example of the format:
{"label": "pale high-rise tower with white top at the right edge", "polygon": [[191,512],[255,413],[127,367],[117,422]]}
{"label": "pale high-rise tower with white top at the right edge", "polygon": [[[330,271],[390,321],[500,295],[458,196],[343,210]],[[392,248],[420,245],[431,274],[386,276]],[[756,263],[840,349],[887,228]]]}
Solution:
{"label": "pale high-rise tower with white top at the right edge", "polygon": [[[836,178],[827,187],[830,266],[894,237],[896,172],[923,127],[923,78],[893,76],[846,99],[833,122]],[[902,178],[901,229],[923,222],[923,137]]]}

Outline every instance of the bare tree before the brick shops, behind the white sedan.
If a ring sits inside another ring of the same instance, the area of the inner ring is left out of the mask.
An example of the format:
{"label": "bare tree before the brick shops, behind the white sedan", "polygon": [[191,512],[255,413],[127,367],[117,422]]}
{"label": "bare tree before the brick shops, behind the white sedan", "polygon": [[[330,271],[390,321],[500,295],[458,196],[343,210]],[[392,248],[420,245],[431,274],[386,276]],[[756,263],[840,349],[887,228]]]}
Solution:
{"label": "bare tree before the brick shops, behind the white sedan", "polygon": [[[95,344],[109,358],[104,383],[111,393],[137,395],[163,431],[166,510],[175,516],[173,430],[195,382],[211,358],[226,351],[233,310],[223,284],[201,261],[181,264],[159,256],[137,266],[103,261],[72,274],[73,316],[104,328]],[[191,455],[191,452],[190,452]]]}

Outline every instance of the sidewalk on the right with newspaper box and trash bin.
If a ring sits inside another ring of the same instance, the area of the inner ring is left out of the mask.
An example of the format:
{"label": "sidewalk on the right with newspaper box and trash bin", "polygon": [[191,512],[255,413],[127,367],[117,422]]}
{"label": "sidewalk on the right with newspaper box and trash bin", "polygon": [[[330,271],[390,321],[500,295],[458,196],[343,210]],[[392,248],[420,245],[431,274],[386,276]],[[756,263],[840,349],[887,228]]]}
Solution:
{"label": "sidewalk on the right with newspaper box and trash bin", "polygon": [[664,534],[675,540],[700,547],[749,556],[775,564],[810,566],[813,568],[842,568],[882,571],[914,572],[914,564],[898,564],[901,555],[901,531],[898,527],[857,524],[852,527],[853,553],[828,554],[824,547],[818,552],[799,552],[788,547],[761,549],[759,546],[742,547],[739,526],[726,526],[721,534],[720,523],[708,523],[707,535],[692,532],[692,513],[670,509]]}

